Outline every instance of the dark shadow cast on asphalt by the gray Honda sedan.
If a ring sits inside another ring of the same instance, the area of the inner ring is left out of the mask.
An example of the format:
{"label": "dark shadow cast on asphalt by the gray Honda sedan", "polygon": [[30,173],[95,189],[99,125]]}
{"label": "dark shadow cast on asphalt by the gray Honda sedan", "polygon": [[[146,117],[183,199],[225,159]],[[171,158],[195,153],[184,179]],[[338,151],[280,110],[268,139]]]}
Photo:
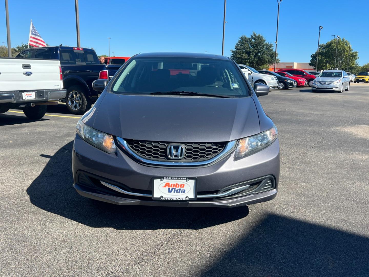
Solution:
{"label": "dark shadow cast on asphalt by the gray Honda sedan", "polygon": [[177,208],[119,206],[94,201],[77,194],[72,177],[73,141],[49,159],[39,176],[27,188],[33,205],[81,224],[130,230],[202,229],[248,215],[247,206],[225,208]]}

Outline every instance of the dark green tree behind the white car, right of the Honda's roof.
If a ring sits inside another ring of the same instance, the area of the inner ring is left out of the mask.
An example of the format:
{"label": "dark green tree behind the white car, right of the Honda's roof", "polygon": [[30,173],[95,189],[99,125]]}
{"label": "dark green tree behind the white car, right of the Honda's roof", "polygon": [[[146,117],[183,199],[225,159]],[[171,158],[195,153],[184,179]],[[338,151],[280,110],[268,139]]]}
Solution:
{"label": "dark green tree behind the white car, right of the Honda's roof", "polygon": [[[274,64],[273,44],[267,42],[261,34],[255,32],[252,32],[250,37],[242,35],[231,53],[231,58],[237,64],[245,64],[255,69],[269,68],[269,65]],[[279,59],[277,58],[278,62]]]}

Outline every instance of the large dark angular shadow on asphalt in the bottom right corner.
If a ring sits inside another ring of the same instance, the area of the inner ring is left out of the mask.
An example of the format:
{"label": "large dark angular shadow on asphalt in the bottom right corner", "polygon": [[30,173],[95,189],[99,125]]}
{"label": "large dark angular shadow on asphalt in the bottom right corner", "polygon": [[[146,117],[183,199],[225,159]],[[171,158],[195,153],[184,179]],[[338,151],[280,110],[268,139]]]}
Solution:
{"label": "large dark angular shadow on asphalt in the bottom right corner", "polygon": [[194,276],[369,276],[369,238],[268,214]]}

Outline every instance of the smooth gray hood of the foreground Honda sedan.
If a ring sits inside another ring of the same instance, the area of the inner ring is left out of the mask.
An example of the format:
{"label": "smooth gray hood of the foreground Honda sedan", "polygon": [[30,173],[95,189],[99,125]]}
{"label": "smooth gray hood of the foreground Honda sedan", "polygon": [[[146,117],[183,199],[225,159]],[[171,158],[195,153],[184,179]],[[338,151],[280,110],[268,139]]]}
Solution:
{"label": "smooth gray hood of the foreground Honda sedan", "polygon": [[90,127],[137,140],[220,142],[260,133],[251,97],[106,93],[94,113],[92,120],[86,121]]}

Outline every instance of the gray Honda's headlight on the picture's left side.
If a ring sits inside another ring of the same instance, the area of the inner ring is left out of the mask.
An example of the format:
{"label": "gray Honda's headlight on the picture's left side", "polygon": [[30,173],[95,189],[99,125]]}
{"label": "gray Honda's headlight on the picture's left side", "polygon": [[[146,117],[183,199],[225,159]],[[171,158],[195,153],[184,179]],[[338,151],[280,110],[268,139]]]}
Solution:
{"label": "gray Honda's headlight on the picture's left side", "polygon": [[77,134],[89,144],[107,153],[115,153],[115,143],[112,135],[95,130],[80,119],[77,123]]}

